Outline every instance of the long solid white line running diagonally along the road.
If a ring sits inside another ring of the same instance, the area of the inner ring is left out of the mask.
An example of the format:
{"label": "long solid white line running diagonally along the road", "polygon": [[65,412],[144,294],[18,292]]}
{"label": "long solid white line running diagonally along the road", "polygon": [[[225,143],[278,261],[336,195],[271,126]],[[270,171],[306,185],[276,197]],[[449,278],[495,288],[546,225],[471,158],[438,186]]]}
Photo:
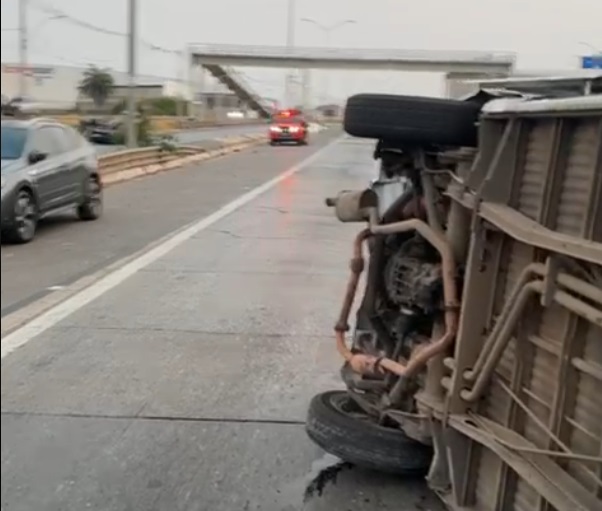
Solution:
{"label": "long solid white line running diagonally along the road", "polygon": [[14,332],[11,332],[2,339],[1,359],[4,360],[5,357],[10,355],[16,349],[24,346],[41,333],[69,317],[74,312],[77,312],[79,309],[85,307],[111,289],[117,287],[119,284],[129,279],[140,270],[143,270],[150,264],[161,259],[193,236],[196,236],[201,231],[208,229],[216,222],[219,222],[223,218],[234,213],[236,210],[252,202],[271,188],[274,188],[280,182],[308,167],[318,158],[321,158],[324,153],[332,149],[332,147],[338,144],[341,140],[342,137],[333,140],[328,145],[309,156],[309,158],[303,160],[301,163],[291,167],[282,174],[276,176],[274,179],[234,199],[229,204],[226,204],[222,208],[218,209],[215,213],[212,213],[211,215],[191,224],[189,227],[178,231],[172,237],[167,238],[163,243],[151,248],[148,252],[143,253],[136,259],[126,263],[121,268],[118,268],[114,272],[109,273],[105,277],[101,278],[91,286],[83,289],[64,302],[49,309]]}

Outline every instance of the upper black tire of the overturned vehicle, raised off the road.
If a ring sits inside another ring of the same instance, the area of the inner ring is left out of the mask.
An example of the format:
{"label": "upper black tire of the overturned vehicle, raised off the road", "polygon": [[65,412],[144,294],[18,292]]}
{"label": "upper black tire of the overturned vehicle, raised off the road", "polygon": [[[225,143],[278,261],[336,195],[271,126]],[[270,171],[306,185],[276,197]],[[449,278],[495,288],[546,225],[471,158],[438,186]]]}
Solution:
{"label": "upper black tire of the overturned vehicle, raised off the road", "polygon": [[399,145],[476,147],[480,111],[453,99],[358,94],[347,100],[344,129]]}

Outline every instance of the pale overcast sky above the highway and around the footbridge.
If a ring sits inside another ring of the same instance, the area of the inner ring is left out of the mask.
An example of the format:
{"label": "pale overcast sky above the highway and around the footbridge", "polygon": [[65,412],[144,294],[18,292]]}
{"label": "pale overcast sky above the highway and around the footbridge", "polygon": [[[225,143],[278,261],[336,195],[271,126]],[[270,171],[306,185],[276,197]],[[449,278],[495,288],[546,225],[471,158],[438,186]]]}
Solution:
{"label": "pale overcast sky above the highway and around the footbridge", "polygon": [[[17,59],[19,0],[2,0],[2,61]],[[126,0],[28,0],[30,62],[95,63],[125,69],[125,39],[87,30],[68,20],[47,20],[44,8],[60,9],[95,26],[125,32]],[[288,0],[138,0],[139,35],[157,46],[188,43],[284,44]],[[503,7],[501,7],[503,6]],[[325,25],[357,23],[332,33],[332,46],[518,53],[523,69],[577,67],[585,44],[602,48],[601,0],[297,0],[297,17]],[[325,34],[299,21],[298,45],[322,46]],[[140,45],[139,71],[175,78],[173,55]],[[264,94],[280,95],[280,71],[245,70]],[[316,93],[335,97],[357,91],[436,94],[441,77],[416,73],[324,73],[312,76]]]}

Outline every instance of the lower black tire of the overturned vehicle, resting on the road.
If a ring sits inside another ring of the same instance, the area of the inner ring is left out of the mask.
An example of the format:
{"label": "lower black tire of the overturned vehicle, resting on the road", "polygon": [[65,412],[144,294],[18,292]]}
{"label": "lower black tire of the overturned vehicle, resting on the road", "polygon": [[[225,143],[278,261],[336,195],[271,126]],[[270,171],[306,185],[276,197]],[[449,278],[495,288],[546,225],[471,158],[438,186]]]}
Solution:
{"label": "lower black tire of the overturned vehicle, resting on the road", "polygon": [[319,394],[312,400],[306,423],[309,437],[326,452],[358,467],[398,475],[425,475],[433,451],[399,429],[380,426],[367,417],[342,411],[360,408],[345,391]]}

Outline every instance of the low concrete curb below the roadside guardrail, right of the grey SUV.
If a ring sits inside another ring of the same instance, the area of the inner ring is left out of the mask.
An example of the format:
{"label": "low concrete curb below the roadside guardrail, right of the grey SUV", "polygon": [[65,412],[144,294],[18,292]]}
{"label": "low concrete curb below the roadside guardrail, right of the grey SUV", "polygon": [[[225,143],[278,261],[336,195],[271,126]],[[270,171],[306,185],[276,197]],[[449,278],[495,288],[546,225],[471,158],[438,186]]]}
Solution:
{"label": "low concrete curb below the roadside guardrail, right of the grey SUV", "polygon": [[205,160],[213,160],[221,156],[228,154],[237,153],[265,143],[267,140],[264,134],[262,135],[248,135],[242,137],[232,137],[225,139],[218,139],[217,142],[222,144],[216,149],[202,150],[199,149],[197,154],[186,155],[181,158],[168,161],[162,164],[147,165],[144,167],[130,168],[122,171],[111,172],[102,176],[102,182],[105,186],[112,186],[132,179],[137,179],[144,176],[151,176],[159,172],[165,172],[168,170],[183,167],[191,163],[200,163]]}

